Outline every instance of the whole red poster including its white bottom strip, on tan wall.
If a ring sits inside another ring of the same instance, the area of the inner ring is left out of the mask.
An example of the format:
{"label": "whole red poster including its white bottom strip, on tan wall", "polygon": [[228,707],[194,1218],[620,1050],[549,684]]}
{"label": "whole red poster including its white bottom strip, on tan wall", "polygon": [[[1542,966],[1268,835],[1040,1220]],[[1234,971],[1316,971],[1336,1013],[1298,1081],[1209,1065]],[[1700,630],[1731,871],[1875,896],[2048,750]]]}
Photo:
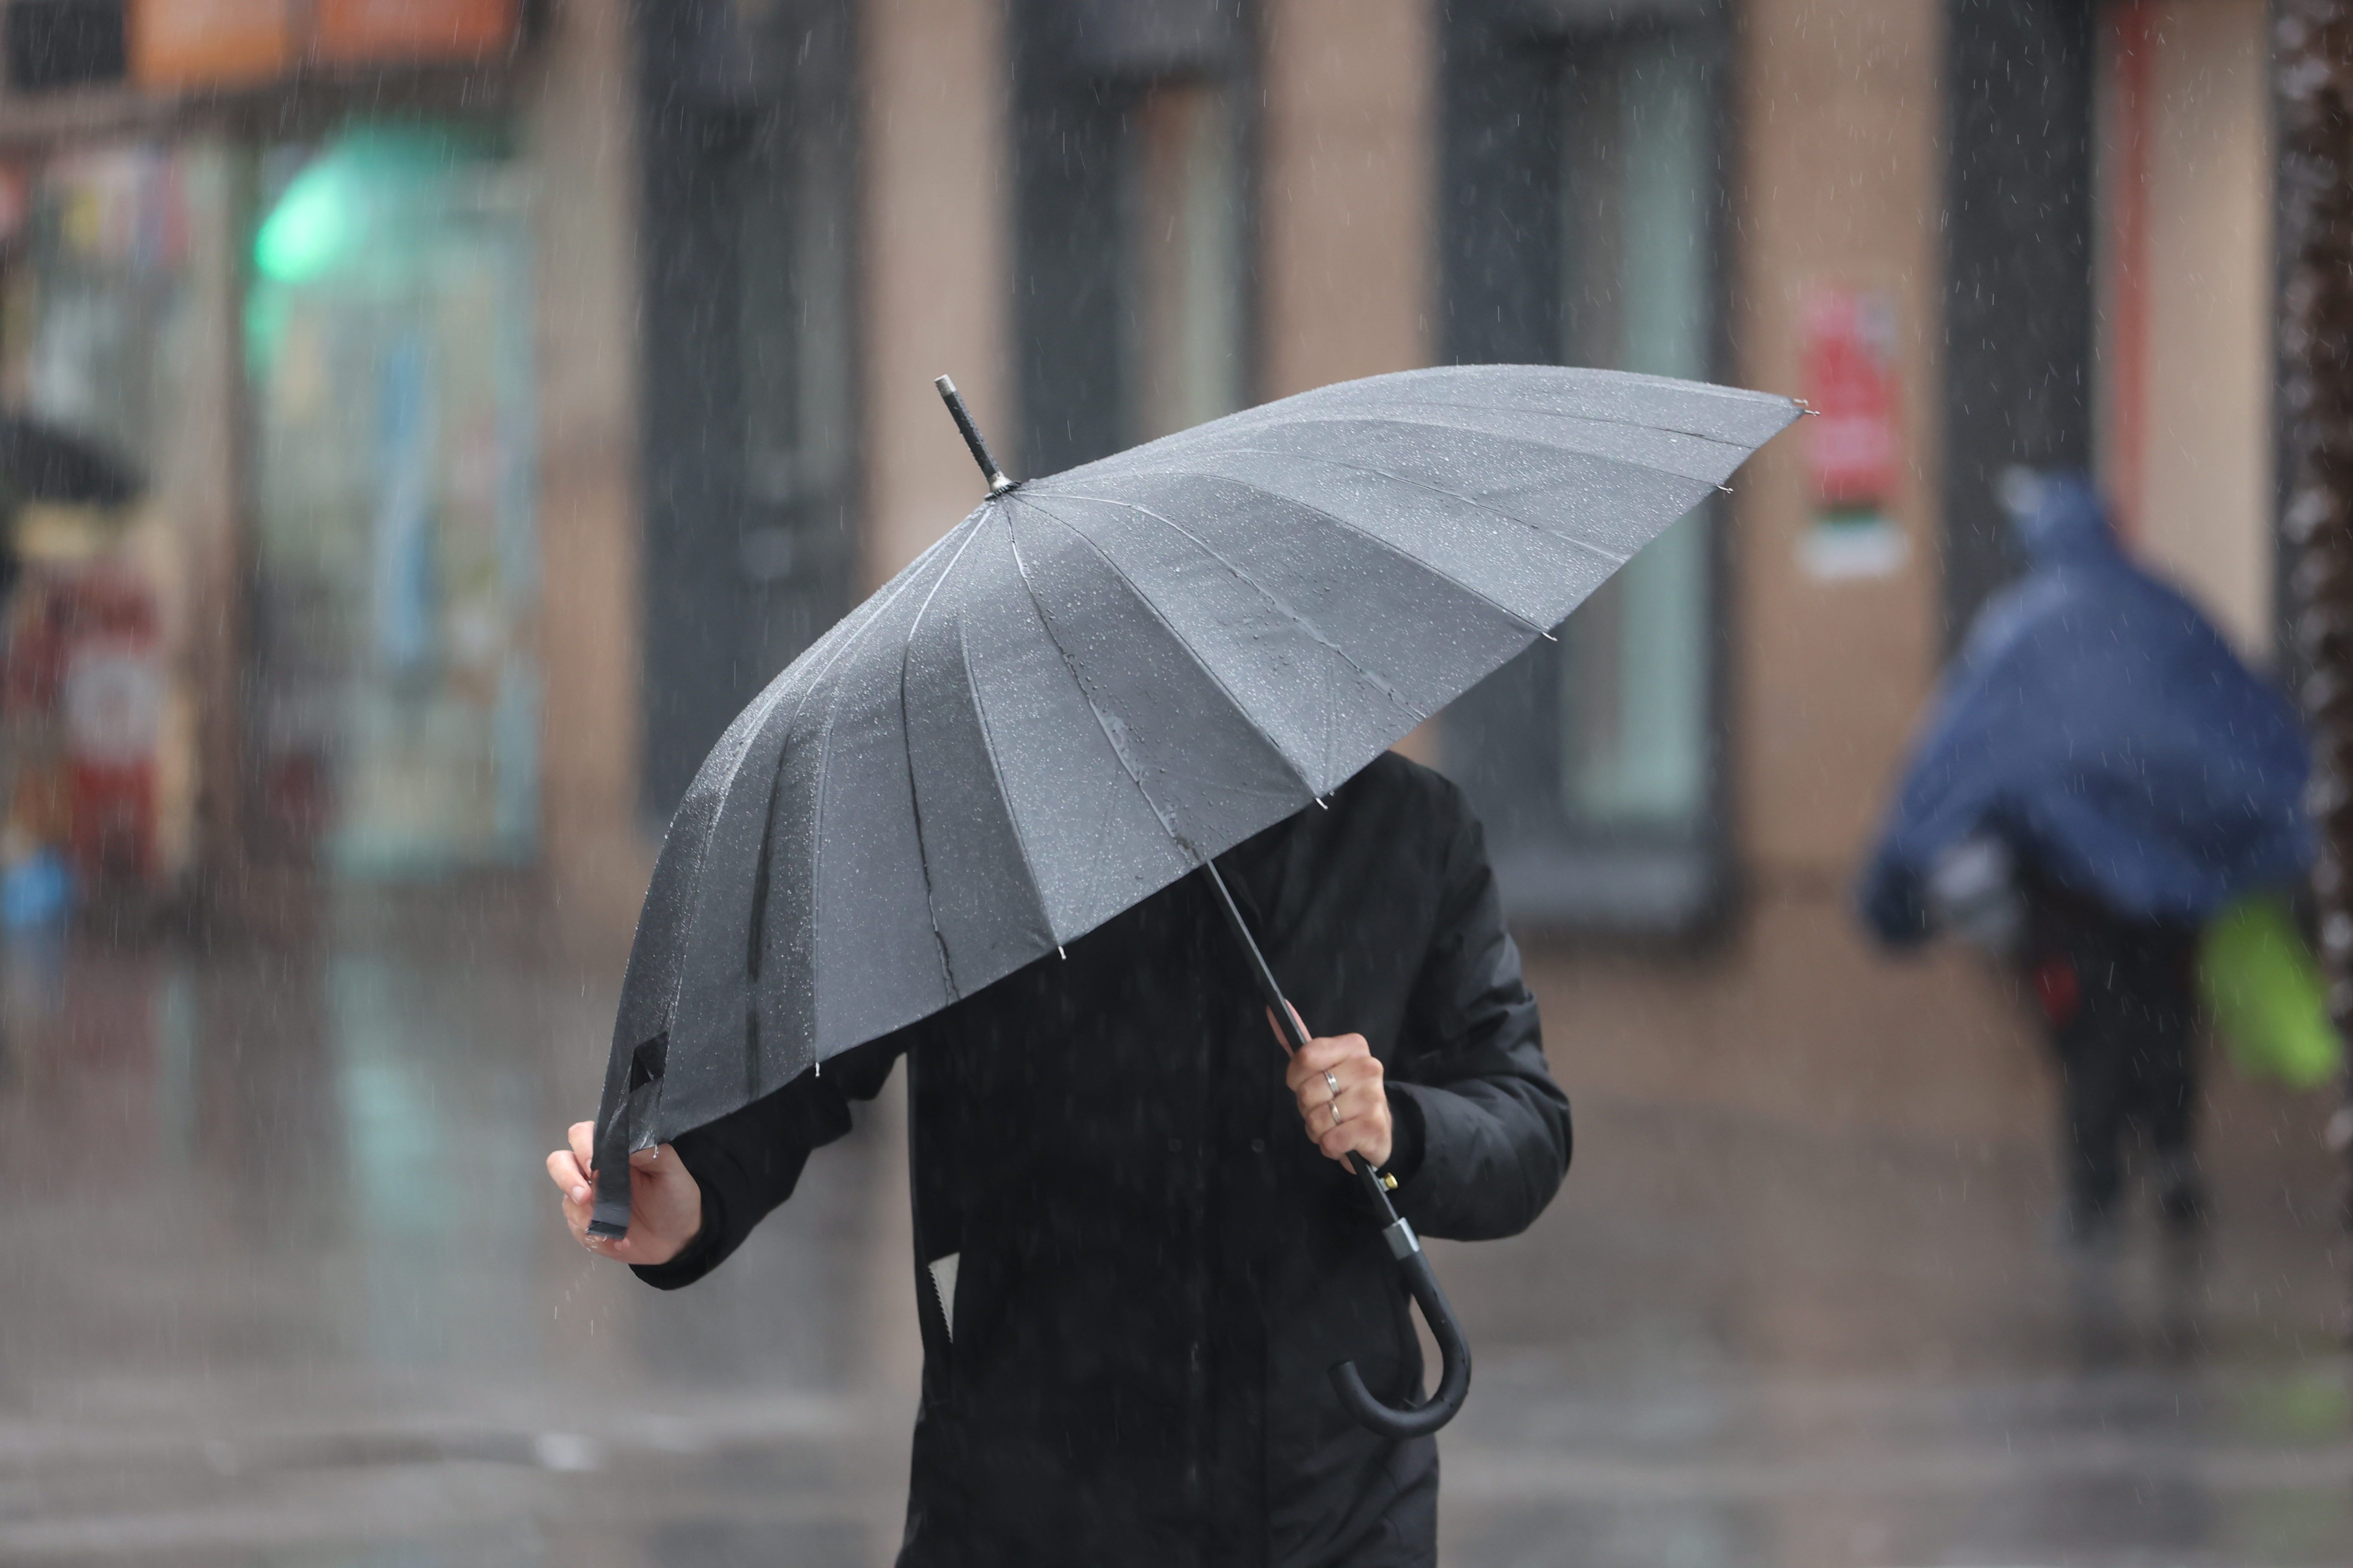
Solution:
{"label": "whole red poster including its white bottom strip, on tan wall", "polygon": [[1800,317],[1805,468],[1814,527],[1800,559],[1814,578],[1887,576],[1904,534],[1887,510],[1901,480],[1897,440],[1897,310],[1885,294],[1817,287]]}

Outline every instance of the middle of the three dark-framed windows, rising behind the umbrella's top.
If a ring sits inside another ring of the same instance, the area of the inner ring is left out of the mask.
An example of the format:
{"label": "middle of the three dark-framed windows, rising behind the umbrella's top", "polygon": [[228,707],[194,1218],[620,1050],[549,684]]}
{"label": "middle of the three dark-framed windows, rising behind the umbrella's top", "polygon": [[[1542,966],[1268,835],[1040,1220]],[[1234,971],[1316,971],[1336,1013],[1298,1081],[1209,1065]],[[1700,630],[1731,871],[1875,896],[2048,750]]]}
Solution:
{"label": "middle of the three dark-framed windows, rising behind the umbrella's top", "polygon": [[1026,473],[1252,397],[1249,26],[1233,0],[1021,0],[1014,315]]}

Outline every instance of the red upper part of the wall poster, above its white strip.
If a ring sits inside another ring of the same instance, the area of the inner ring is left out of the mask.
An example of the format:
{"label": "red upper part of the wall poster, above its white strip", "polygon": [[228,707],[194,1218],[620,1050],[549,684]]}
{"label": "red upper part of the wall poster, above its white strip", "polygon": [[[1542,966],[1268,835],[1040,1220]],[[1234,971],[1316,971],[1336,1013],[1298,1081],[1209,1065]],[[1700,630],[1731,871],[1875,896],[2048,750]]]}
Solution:
{"label": "red upper part of the wall poster, above its white strip", "polygon": [[1805,463],[1821,512],[1885,508],[1897,491],[1894,308],[1859,289],[1805,301],[1800,378],[1814,418]]}

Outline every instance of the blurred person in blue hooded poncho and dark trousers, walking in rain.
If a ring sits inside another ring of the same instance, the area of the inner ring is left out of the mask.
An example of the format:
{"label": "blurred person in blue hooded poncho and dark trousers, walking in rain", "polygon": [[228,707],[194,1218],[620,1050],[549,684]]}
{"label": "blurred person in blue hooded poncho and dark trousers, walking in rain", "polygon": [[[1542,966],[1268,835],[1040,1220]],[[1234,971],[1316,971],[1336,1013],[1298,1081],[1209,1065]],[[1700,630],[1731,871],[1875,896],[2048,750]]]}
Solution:
{"label": "blurred person in blue hooded poncho and dark trousers, walking in rain", "polygon": [[2028,571],[1944,677],[1864,870],[1894,947],[1934,933],[2014,964],[2064,1081],[2071,1244],[2115,1237],[2125,1133],[2158,1208],[2205,1218],[2198,933],[2313,856],[2297,717],[2174,588],[2132,564],[2080,473],[2012,475]]}

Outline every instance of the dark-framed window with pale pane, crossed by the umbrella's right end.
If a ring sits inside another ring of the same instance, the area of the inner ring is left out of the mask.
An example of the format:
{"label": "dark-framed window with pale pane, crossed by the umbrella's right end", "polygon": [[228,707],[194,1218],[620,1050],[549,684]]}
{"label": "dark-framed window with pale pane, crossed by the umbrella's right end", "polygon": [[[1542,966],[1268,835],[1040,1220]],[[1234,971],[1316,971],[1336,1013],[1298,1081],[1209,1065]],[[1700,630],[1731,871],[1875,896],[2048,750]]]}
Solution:
{"label": "dark-framed window with pale pane, crossed by the umbrella's right end", "polygon": [[[1551,35],[1527,7],[1452,21],[1457,360],[1715,371],[1720,26],[1692,5],[1619,12]],[[1445,715],[1513,914],[1682,931],[1720,905],[1718,623],[1701,508]]]}

